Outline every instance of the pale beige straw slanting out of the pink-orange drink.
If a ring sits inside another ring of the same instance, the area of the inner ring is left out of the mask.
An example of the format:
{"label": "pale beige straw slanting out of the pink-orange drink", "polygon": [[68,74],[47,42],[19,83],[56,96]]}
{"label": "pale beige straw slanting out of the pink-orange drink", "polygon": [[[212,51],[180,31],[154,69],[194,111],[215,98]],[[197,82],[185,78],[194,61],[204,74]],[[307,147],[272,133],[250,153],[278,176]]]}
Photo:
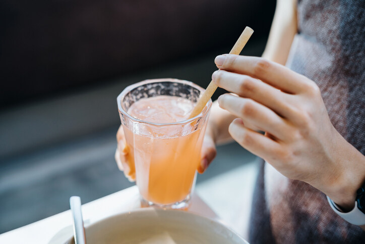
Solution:
{"label": "pale beige straw slanting out of the pink-orange drink", "polygon": [[[252,33],[254,33],[254,30],[250,27],[246,26],[242,34],[239,36],[238,40],[232,47],[232,50],[229,52],[229,54],[236,54],[239,55],[246,45],[247,41],[250,39]],[[211,81],[207,87],[207,89],[204,91],[203,95],[198,100],[197,105],[195,106],[193,112],[190,114],[189,119],[197,116],[200,114],[205,107],[205,105],[208,103],[210,97],[212,97],[214,91],[217,89],[217,85],[214,84],[213,81]]]}

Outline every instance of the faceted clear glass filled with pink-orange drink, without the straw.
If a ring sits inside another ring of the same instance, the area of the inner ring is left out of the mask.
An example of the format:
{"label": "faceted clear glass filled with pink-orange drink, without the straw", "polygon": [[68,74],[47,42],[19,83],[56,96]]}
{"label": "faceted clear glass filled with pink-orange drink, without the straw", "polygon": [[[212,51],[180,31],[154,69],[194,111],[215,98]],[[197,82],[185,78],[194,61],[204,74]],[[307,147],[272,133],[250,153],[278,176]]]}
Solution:
{"label": "faceted clear glass filled with pink-orange drink, without the straw", "polygon": [[201,87],[188,81],[158,79],[126,89],[134,95],[124,94],[118,106],[128,162],[131,168],[135,166],[143,200],[150,205],[186,207],[201,160],[211,102],[200,115],[187,120]]}

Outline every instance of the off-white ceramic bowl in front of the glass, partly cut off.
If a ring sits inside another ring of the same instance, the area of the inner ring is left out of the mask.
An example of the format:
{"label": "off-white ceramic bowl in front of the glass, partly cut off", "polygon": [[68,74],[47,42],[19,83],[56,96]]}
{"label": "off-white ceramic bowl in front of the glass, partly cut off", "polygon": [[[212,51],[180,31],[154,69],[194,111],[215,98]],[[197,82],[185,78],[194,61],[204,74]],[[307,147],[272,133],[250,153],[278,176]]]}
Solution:
{"label": "off-white ceramic bowl in front of the glass, partly cut off", "polygon": [[[178,210],[139,209],[86,227],[92,243],[248,243],[221,223]],[[74,238],[69,243],[74,243]]]}

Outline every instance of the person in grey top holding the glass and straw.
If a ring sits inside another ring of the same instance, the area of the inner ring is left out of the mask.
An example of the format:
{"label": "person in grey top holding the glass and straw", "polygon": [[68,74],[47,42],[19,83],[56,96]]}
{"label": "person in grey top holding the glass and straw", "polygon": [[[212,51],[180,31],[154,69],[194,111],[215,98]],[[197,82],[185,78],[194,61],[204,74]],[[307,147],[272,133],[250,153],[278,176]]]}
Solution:
{"label": "person in grey top holding the glass and straw", "polygon": [[350,211],[365,180],[364,40],[363,1],[278,0],[262,58],[216,57],[232,93],[213,103],[198,171],[232,139],[263,159],[250,242],[365,243],[326,199]]}

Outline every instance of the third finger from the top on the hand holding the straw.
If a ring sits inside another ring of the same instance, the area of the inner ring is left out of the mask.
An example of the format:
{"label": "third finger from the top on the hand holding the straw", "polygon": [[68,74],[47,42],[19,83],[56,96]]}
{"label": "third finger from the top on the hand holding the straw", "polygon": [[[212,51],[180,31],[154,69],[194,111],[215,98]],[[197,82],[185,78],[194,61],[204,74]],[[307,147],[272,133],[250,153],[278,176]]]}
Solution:
{"label": "third finger from the top on the hand holding the straw", "polygon": [[283,118],[269,108],[244,97],[223,94],[218,98],[219,106],[241,118],[244,123],[255,125],[259,130],[267,131],[275,137],[284,140],[290,128]]}

